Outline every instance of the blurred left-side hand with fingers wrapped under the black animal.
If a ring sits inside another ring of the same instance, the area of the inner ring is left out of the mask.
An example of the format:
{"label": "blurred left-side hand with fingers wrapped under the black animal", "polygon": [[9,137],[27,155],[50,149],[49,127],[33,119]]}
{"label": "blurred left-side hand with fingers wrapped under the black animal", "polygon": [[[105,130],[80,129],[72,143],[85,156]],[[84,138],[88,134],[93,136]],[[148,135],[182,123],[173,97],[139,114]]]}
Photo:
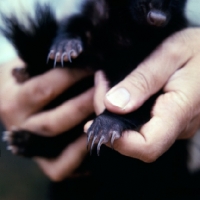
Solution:
{"label": "blurred left-side hand with fingers wrapped under the black animal", "polygon": [[[76,126],[93,113],[93,88],[54,109],[41,112],[45,105],[87,76],[88,72],[60,68],[24,83],[17,83],[11,71],[23,65],[17,59],[0,68],[0,118],[7,130],[16,127],[43,136],[55,136]],[[69,117],[74,115],[75,118]],[[81,136],[67,146],[58,158],[35,160],[51,179],[61,180],[80,165],[86,153],[86,138]]]}

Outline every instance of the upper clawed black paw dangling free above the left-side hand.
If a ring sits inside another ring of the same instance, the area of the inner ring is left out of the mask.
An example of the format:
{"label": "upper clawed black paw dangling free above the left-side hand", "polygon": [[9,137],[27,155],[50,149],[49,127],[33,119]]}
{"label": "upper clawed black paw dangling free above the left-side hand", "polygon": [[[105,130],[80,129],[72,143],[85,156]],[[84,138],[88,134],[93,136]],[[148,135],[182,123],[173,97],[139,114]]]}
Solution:
{"label": "upper clawed black paw dangling free above the left-side hand", "polygon": [[72,62],[72,58],[78,57],[82,51],[83,45],[80,39],[58,37],[50,49],[47,62],[52,59],[54,60],[54,67],[57,62],[61,62],[61,65],[64,66],[64,62]]}

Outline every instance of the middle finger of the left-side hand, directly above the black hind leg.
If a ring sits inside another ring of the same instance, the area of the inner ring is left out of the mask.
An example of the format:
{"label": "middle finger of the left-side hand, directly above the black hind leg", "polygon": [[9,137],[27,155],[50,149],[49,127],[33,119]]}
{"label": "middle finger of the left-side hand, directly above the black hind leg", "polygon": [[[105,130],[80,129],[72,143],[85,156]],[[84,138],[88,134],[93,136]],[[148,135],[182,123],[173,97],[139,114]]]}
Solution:
{"label": "middle finger of the left-side hand, directly above the black hind leg", "polygon": [[40,133],[44,136],[55,136],[80,124],[94,112],[94,88],[70,99],[55,109],[44,111],[29,117],[20,128]]}

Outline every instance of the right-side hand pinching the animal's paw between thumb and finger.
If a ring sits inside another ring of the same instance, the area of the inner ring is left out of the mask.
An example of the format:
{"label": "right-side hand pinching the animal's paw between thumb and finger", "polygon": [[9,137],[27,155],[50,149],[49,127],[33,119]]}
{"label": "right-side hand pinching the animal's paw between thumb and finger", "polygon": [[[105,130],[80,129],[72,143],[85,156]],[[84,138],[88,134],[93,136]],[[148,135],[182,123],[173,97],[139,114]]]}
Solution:
{"label": "right-side hand pinching the animal's paw between thumb and finger", "polygon": [[[105,107],[119,114],[132,112],[163,88],[163,94],[152,108],[150,121],[139,132],[124,132],[114,142],[116,151],[153,162],[175,140],[195,134],[200,125],[199,64],[200,29],[196,28],[183,30],[166,39],[107,94],[108,84],[101,72],[97,74],[94,101],[97,114]],[[99,103],[100,99],[105,106]],[[85,125],[85,131],[90,124]]]}

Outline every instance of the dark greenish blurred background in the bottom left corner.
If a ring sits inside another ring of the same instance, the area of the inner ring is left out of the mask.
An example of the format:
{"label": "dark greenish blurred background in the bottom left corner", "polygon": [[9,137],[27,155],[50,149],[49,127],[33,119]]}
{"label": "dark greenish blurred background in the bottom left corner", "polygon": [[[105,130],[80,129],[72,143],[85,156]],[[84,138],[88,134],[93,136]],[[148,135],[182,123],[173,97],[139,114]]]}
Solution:
{"label": "dark greenish blurred background in the bottom left corner", "polygon": [[48,179],[33,161],[6,150],[3,130],[0,124],[0,200],[47,200]]}

